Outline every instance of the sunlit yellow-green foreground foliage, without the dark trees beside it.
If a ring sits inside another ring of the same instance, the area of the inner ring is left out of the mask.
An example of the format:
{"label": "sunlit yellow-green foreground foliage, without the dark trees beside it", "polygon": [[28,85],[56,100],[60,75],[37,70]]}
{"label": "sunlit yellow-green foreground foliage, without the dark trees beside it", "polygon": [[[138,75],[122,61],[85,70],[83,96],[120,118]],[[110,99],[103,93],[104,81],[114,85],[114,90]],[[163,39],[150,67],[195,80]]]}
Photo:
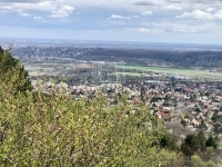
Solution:
{"label": "sunlit yellow-green foreground foliage, without the dark trees beside it", "polygon": [[105,98],[18,94],[0,102],[0,161],[18,166],[158,166],[176,157],[160,149],[162,124],[141,106],[107,108]]}

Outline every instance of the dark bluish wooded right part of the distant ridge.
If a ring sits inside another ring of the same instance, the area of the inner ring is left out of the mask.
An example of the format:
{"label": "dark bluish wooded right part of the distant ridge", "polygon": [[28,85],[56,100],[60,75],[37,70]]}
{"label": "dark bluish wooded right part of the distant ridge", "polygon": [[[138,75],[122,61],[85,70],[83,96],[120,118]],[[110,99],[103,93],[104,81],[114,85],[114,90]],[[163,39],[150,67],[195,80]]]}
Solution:
{"label": "dark bluish wooded right part of the distant ridge", "polygon": [[[220,68],[222,51],[170,51],[170,50],[147,50],[147,49],[90,49],[85,50],[81,59],[94,59],[100,61],[124,60],[132,65],[150,63],[150,60],[164,62],[176,68]],[[150,59],[150,60],[149,60]]]}

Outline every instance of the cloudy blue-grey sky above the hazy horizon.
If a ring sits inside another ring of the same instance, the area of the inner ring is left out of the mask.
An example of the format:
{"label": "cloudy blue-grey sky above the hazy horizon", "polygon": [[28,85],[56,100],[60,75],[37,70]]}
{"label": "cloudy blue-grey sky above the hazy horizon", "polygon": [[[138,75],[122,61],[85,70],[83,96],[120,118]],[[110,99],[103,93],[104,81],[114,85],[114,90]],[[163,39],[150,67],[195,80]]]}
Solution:
{"label": "cloudy blue-grey sky above the hazy horizon", "polygon": [[0,0],[1,38],[222,45],[222,0]]}

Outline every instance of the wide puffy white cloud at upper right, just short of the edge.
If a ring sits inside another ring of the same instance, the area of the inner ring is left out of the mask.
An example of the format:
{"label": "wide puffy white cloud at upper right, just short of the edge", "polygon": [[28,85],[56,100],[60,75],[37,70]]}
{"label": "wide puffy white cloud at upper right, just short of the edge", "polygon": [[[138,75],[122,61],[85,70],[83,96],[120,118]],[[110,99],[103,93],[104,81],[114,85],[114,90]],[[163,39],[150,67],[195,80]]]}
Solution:
{"label": "wide puffy white cloud at upper right, just short of the edge", "polygon": [[199,9],[192,12],[184,12],[181,16],[176,16],[176,19],[196,19],[196,20],[212,20],[213,16],[209,12],[201,11]]}

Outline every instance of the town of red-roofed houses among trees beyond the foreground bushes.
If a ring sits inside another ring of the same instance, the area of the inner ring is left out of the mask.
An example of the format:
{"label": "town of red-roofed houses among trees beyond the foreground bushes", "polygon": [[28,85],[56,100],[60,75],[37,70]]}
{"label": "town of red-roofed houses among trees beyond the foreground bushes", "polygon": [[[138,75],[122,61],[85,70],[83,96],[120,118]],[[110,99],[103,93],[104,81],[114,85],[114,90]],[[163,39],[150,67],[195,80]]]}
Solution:
{"label": "town of red-roofed houses among trees beyond the foreground bushes", "polygon": [[101,85],[68,85],[51,81],[33,81],[36,89],[50,94],[69,94],[77,99],[93,98],[102,92],[108,97],[108,105],[118,105],[118,98],[128,96],[128,102],[145,102],[150,111],[165,121],[181,124],[189,130],[222,132],[222,82],[195,82],[171,77],[169,81],[140,80],[141,82],[104,82]]}

